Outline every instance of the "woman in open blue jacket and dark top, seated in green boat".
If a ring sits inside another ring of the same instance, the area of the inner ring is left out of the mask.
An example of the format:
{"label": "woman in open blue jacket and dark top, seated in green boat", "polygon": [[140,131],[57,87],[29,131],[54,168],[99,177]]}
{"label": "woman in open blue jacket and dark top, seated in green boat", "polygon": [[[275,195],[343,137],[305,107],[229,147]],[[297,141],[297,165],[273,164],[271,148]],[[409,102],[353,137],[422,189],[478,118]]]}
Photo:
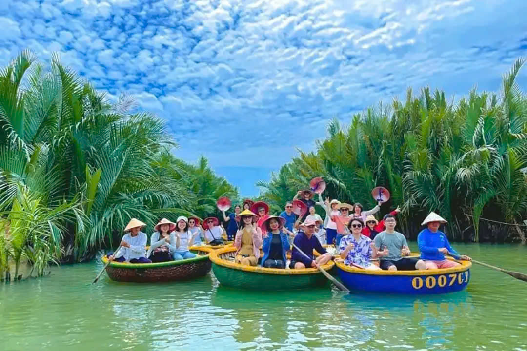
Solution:
{"label": "woman in open blue jacket and dark top, seated in green boat", "polygon": [[286,251],[291,245],[285,232],[285,224],[286,219],[277,216],[270,216],[264,222],[267,234],[264,235],[262,244],[262,266],[266,268],[286,268]]}

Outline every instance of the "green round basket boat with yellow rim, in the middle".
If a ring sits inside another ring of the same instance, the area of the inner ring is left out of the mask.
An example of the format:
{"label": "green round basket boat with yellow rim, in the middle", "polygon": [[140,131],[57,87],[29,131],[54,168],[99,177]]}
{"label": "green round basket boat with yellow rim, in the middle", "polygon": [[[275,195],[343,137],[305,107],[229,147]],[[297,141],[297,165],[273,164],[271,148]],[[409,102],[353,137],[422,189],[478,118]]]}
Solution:
{"label": "green round basket boat with yellow rim, in the middle", "polygon": [[[221,285],[254,290],[302,289],[327,284],[327,278],[316,268],[278,269],[242,266],[234,262],[236,247],[228,246],[210,253],[212,272]],[[329,261],[322,268],[330,270]]]}

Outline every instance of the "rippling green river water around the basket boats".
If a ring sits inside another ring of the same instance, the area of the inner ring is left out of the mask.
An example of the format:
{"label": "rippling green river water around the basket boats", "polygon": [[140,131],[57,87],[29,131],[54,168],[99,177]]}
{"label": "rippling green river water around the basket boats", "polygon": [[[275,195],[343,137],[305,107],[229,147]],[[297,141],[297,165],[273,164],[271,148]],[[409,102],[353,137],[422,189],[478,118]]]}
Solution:
{"label": "rippling green river water around the basket boats", "polygon": [[[415,248],[415,243],[411,244]],[[527,273],[527,247],[455,245]],[[460,293],[415,297],[248,292],[210,273],[191,282],[130,284],[100,261],[0,284],[0,350],[527,350],[527,283],[473,265]]]}

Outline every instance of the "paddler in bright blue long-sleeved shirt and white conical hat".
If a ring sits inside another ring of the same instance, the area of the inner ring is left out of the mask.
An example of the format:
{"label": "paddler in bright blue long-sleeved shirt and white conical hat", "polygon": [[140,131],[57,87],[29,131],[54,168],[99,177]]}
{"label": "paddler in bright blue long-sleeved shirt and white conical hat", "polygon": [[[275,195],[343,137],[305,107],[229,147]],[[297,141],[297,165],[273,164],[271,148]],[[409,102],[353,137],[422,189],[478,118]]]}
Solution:
{"label": "paddler in bright blue long-sleeved shirt and white conical hat", "polygon": [[[460,264],[445,258],[445,254],[458,255],[446,238],[445,233],[439,230],[441,223],[447,223],[440,215],[431,212],[426,216],[421,225],[427,228],[421,230],[417,235],[417,245],[421,251],[421,259],[424,259],[426,269],[451,268]],[[472,260],[469,256],[461,256],[461,259]]]}

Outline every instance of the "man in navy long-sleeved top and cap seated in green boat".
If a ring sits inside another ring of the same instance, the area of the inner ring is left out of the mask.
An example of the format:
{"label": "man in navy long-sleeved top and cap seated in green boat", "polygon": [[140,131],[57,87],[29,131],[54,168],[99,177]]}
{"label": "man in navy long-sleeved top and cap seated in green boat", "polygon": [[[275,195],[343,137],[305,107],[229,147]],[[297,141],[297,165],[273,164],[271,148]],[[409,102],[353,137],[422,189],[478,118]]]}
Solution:
{"label": "man in navy long-sleeved top and cap seated in green boat", "polygon": [[[306,222],[301,224],[300,230],[293,240],[294,246],[291,249],[291,263],[289,264],[289,268],[318,267],[319,265],[326,264],[331,259],[331,255],[320,245],[320,242],[314,234],[315,222],[306,220]],[[295,246],[302,250],[308,257],[302,255]],[[317,250],[320,256],[315,258],[313,249]]]}

